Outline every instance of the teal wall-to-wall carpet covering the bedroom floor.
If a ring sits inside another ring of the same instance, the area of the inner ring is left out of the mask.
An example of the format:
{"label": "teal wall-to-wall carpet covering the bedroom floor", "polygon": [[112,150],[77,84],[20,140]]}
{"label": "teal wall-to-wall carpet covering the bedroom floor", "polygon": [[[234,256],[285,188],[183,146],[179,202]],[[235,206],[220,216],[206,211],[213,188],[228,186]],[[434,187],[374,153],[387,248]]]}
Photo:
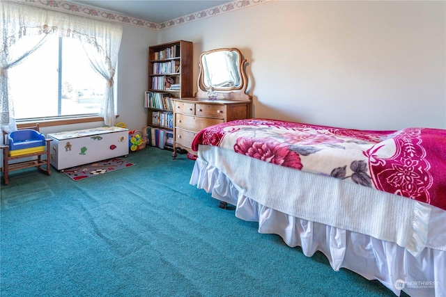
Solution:
{"label": "teal wall-to-wall carpet covering the bedroom floor", "polygon": [[1,185],[1,296],[394,296],[305,257],[190,186],[193,161],[155,147],[72,181],[35,168]]}

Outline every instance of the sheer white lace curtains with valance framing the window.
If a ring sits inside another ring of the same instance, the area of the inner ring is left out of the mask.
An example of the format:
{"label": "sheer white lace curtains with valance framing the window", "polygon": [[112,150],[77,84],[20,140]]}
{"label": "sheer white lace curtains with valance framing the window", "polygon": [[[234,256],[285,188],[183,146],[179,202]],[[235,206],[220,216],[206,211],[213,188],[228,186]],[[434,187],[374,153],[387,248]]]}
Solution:
{"label": "sheer white lace curtains with valance framing the window", "polygon": [[[97,19],[60,13],[31,6],[24,2],[1,1],[2,46],[0,49],[0,120],[6,131],[17,129],[14,118],[13,98],[8,94],[8,69],[32,54],[45,42],[48,34],[77,38],[89,55],[93,69],[104,77],[105,97],[101,116],[106,125],[114,125],[113,77],[116,72],[118,51],[123,27],[119,24]],[[41,35],[35,47],[25,52],[17,51],[15,45],[25,36]],[[26,81],[24,81],[24,87]],[[30,90],[32,91],[32,90]]]}

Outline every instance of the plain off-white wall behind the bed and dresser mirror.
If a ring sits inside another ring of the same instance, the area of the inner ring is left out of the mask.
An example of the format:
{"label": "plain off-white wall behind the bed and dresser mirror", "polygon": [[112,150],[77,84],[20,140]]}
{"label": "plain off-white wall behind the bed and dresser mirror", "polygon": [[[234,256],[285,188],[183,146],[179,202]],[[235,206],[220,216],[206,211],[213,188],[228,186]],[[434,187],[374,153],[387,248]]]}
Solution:
{"label": "plain off-white wall behind the bed and dresser mirror", "polygon": [[[446,128],[444,1],[272,1],[160,31],[238,47],[256,118],[355,129]],[[194,70],[197,77],[198,66]]]}

